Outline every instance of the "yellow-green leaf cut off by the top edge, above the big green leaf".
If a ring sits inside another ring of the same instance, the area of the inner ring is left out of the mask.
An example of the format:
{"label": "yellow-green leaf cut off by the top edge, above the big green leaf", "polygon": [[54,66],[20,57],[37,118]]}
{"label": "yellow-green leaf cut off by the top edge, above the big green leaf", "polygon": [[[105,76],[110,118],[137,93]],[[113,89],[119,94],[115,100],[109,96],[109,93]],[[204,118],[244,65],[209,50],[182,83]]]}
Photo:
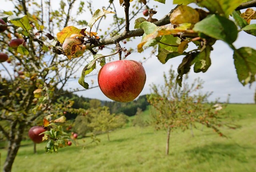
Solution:
{"label": "yellow-green leaf cut off by the top edge, above the big green leaf", "polygon": [[200,0],[197,4],[201,7],[207,8],[210,13],[218,14],[228,18],[243,0]]}

